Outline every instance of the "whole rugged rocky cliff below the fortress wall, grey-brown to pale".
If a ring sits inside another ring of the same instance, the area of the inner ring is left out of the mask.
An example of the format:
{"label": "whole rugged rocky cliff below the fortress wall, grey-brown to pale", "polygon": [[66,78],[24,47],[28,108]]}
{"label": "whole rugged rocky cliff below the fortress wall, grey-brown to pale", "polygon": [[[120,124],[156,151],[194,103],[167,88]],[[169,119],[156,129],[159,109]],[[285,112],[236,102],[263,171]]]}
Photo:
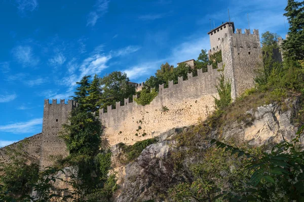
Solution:
{"label": "whole rugged rocky cliff below the fortress wall, grey-brown to pale", "polygon": [[[210,146],[206,134],[222,141],[233,139],[252,146],[291,140],[297,131],[293,124],[297,106],[298,99],[288,99],[284,105],[269,104],[251,109],[245,113],[247,119],[230,120],[230,124],[211,130],[208,121],[169,130],[128,164],[121,163],[124,155],[120,146],[112,146],[112,172],[116,172],[120,185],[113,199],[117,202],[164,201],[170,186],[191,180],[187,166],[203,162],[202,151]],[[181,169],[176,169],[180,165]]]}

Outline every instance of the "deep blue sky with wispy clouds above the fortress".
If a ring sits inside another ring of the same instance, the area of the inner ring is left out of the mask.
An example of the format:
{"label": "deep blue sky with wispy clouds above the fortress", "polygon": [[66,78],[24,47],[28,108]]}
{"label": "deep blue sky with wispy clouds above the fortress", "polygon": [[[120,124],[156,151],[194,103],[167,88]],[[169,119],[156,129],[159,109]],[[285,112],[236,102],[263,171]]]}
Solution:
{"label": "deep blue sky with wispy clouds above the fortress", "polygon": [[41,132],[44,99],[67,99],[84,75],[123,71],[142,82],[162,63],[196,59],[210,49],[209,19],[228,21],[228,8],[236,28],[249,13],[251,30],[285,36],[286,4],[0,0],[0,147]]}

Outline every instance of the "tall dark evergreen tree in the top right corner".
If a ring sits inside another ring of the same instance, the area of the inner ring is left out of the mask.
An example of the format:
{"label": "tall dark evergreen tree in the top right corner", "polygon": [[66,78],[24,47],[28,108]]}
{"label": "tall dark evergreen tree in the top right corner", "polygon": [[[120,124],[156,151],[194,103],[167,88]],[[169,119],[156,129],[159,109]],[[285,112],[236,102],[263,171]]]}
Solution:
{"label": "tall dark evergreen tree in the top right corner", "polygon": [[284,56],[294,60],[304,59],[304,1],[296,2],[288,0],[285,8],[289,22],[288,37],[284,40],[282,47]]}

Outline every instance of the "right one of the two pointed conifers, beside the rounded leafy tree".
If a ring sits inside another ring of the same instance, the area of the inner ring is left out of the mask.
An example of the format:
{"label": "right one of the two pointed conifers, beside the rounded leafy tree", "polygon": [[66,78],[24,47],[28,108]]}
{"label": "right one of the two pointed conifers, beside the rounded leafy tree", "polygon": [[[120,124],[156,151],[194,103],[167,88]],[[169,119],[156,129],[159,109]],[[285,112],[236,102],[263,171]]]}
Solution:
{"label": "right one of the two pointed conifers, beside the rounded leafy tree", "polygon": [[84,108],[88,112],[96,112],[101,105],[101,89],[99,77],[95,74],[90,87],[88,88],[88,96],[85,98]]}

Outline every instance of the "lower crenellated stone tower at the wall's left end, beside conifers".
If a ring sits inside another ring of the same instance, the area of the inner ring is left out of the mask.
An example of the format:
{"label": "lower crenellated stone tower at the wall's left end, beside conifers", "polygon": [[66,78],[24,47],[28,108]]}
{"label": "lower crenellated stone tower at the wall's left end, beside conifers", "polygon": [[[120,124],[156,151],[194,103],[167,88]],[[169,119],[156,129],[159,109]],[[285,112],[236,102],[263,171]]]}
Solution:
{"label": "lower crenellated stone tower at the wall's left end, beside conifers", "polygon": [[55,156],[65,157],[68,155],[65,142],[58,137],[58,133],[62,124],[67,123],[70,112],[76,107],[78,107],[78,104],[73,100],[68,100],[68,104],[65,104],[64,99],[60,99],[60,104],[57,104],[57,99],[53,99],[52,104],[49,104],[49,99],[45,99],[40,158],[41,169],[52,166]]}

